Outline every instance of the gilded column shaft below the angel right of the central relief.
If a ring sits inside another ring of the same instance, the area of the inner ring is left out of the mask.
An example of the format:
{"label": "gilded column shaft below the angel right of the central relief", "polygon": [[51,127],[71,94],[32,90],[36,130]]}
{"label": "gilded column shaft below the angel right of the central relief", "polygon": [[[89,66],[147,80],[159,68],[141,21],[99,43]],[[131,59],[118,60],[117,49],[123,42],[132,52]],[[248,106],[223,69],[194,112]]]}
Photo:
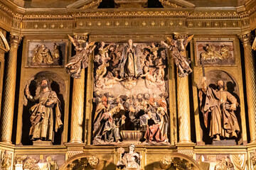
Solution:
{"label": "gilded column shaft below the angel right of the central relief", "polygon": [[188,77],[177,78],[179,143],[191,142]]}

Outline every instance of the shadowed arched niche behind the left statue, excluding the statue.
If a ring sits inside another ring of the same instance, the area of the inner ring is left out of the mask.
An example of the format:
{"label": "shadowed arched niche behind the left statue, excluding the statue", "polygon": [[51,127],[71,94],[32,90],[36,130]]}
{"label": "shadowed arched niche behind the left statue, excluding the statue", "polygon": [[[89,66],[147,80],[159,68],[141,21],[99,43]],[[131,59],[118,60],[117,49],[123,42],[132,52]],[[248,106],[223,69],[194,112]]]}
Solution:
{"label": "shadowed arched niche behind the left statue, excluding the statue", "polygon": [[[55,91],[60,100],[60,112],[61,112],[61,120],[64,122],[64,113],[65,113],[65,81],[62,77],[54,72],[38,72],[37,74],[29,77],[26,81],[26,86],[30,91],[32,96],[39,94],[41,92],[41,81],[43,78],[49,80],[50,90]],[[25,88],[26,88],[25,86]],[[25,89],[24,89],[25,91]],[[33,142],[29,140],[29,130],[31,128],[30,122],[30,113],[29,108],[31,108],[35,103],[28,101],[26,96],[23,97],[23,114],[22,114],[22,135],[21,135],[21,143],[22,145],[32,145]],[[62,142],[62,132],[63,128],[55,132],[53,145],[60,145]]]}

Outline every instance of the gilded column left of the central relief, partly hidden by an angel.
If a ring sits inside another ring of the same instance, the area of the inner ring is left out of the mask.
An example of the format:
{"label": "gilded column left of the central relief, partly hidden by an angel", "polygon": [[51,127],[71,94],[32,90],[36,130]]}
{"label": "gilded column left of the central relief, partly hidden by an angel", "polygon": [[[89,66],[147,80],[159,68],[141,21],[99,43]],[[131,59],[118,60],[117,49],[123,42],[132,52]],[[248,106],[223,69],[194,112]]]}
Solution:
{"label": "gilded column left of the central relief, partly hidden by an angel", "polygon": [[[79,43],[87,40],[87,35],[75,35]],[[85,69],[81,70],[81,77],[73,81],[73,98],[71,108],[70,142],[82,143],[82,121],[85,102]]]}

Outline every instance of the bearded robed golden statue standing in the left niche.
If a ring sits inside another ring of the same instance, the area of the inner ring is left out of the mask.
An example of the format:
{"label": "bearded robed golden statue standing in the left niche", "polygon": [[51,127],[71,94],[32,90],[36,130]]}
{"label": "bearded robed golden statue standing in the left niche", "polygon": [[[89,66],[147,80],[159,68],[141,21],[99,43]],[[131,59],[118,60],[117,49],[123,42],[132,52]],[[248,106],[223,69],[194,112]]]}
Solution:
{"label": "bearded robed golden statue standing in the left niche", "polygon": [[[38,102],[30,108],[31,128],[29,137],[31,140],[53,141],[53,128],[55,132],[63,125],[60,120],[60,101],[55,91],[49,89],[49,81],[45,78],[41,81],[41,93],[31,96],[26,87],[26,97],[29,101]],[[53,108],[55,107],[55,119]],[[55,120],[55,123],[53,122]]]}

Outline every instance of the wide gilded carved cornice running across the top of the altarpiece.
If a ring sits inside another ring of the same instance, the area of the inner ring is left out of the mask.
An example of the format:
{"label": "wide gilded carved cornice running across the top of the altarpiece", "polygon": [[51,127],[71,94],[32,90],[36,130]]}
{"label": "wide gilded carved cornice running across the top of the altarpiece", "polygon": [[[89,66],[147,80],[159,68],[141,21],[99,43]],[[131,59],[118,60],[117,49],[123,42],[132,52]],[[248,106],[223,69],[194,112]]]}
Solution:
{"label": "wide gilded carved cornice running across the top of the altarpiece", "polygon": [[[256,6],[236,8],[95,9],[102,0],[80,0],[67,8],[14,10],[0,0],[0,26],[6,30],[65,30],[73,28],[249,28],[256,27]],[[174,0],[161,0],[174,3]],[[8,4],[8,3],[7,3]],[[83,6],[81,7],[81,4]],[[175,4],[175,3],[174,3]],[[80,7],[78,7],[80,6]],[[75,8],[76,7],[76,8]],[[15,7],[16,8],[16,7]],[[80,8],[80,9],[79,9]],[[85,11],[82,8],[87,8]],[[36,11],[35,11],[36,10]],[[207,10],[207,11],[206,11]],[[33,14],[32,14],[33,13]],[[36,14],[37,13],[37,14]],[[48,13],[48,14],[46,14]],[[58,14],[56,14],[58,13]],[[243,30],[243,29],[242,29]]]}

